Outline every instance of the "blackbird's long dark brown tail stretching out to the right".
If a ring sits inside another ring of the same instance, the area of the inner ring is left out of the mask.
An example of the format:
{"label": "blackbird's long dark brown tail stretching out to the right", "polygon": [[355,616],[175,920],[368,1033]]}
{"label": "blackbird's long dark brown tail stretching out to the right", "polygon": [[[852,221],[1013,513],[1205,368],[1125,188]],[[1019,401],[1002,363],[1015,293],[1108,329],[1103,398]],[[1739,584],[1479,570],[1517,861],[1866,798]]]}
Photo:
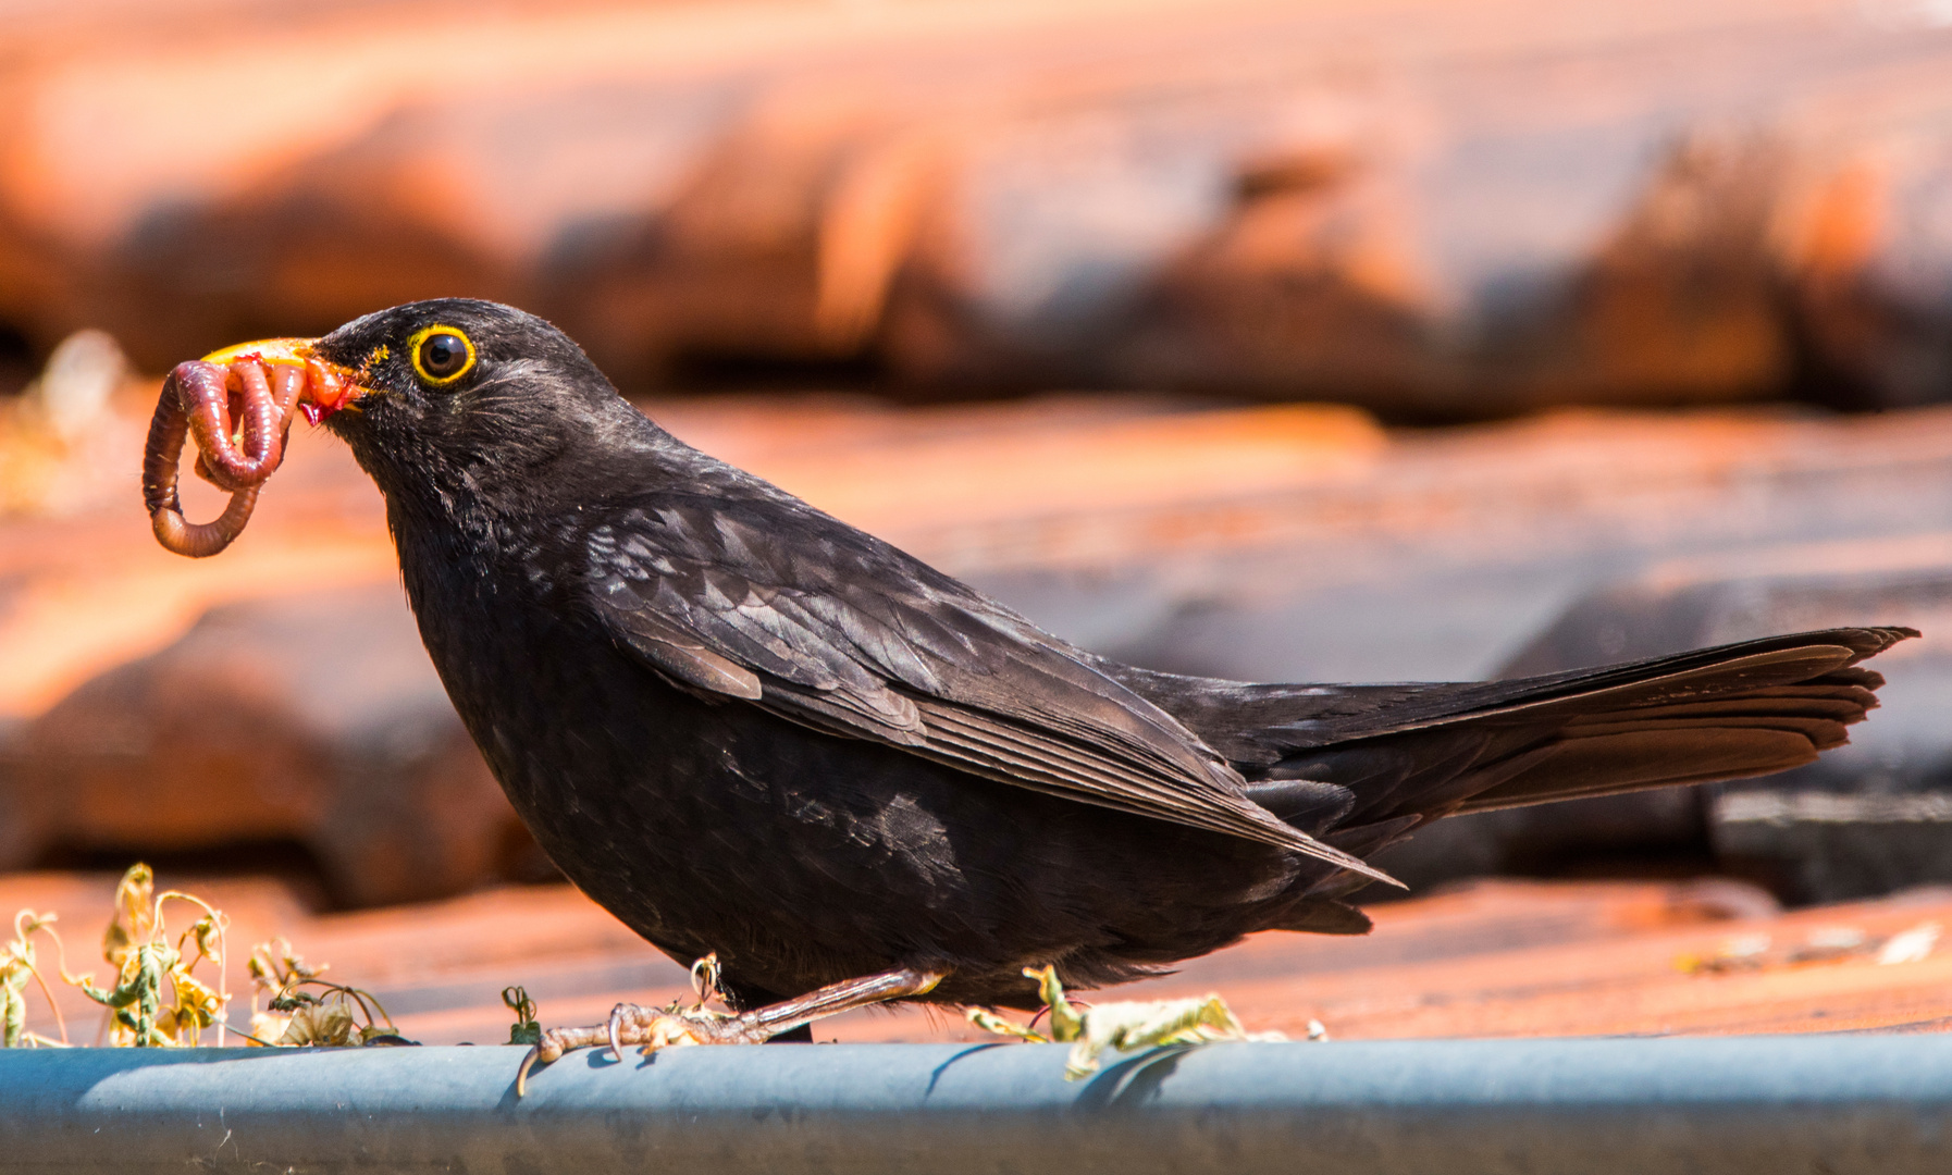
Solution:
{"label": "blackbird's long dark brown tail stretching out to the right", "polygon": [[1829,628],[1544,677],[1243,685],[1107,666],[1234,761],[1247,798],[1372,853],[1415,824],[1769,775],[1849,742],[1913,628]]}

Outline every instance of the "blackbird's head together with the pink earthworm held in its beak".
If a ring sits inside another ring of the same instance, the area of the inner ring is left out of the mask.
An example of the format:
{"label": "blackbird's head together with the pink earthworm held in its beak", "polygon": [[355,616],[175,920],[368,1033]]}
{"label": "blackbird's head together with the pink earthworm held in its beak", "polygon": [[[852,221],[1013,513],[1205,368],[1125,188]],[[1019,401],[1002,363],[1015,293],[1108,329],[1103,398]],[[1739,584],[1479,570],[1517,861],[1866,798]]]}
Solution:
{"label": "blackbird's head together with the pink earthworm held in its beak", "polygon": [[[351,445],[396,533],[420,517],[478,533],[494,517],[582,504],[632,455],[668,472],[671,461],[703,461],[549,322],[474,299],[410,303],[324,338],[238,344],[170,373],[142,453],[142,504],[166,548],[217,554],[242,533],[283,459],[293,410]],[[183,517],[185,437],[197,441],[197,472],[230,490],[213,523]]]}

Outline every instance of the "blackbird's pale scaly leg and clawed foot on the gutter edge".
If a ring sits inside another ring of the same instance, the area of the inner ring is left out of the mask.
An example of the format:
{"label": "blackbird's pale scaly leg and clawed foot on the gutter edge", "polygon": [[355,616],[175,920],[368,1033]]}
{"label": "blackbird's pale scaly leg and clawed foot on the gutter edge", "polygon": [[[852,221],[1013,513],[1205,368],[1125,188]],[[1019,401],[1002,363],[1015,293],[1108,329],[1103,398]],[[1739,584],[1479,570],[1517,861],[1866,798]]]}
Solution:
{"label": "blackbird's pale scaly leg and clawed foot on the gutter edge", "polygon": [[711,1011],[703,999],[697,1007],[619,1003],[611,1009],[607,1025],[549,1029],[543,1033],[543,1040],[529,1050],[529,1056],[521,1058],[521,1070],[515,1074],[515,1093],[521,1095],[527,1091],[531,1068],[537,1064],[547,1066],[572,1048],[609,1044],[621,1060],[625,1044],[642,1044],[644,1052],[677,1044],[763,1044],[781,1033],[791,1033],[800,1025],[810,1025],[830,1015],[871,1003],[886,1003],[888,999],[902,999],[904,995],[921,995],[931,992],[935,984],[941,984],[945,974],[914,968],[890,970],[861,980],[828,984],[796,999],[781,999],[779,1003],[767,1003],[765,1007],[736,1015]]}

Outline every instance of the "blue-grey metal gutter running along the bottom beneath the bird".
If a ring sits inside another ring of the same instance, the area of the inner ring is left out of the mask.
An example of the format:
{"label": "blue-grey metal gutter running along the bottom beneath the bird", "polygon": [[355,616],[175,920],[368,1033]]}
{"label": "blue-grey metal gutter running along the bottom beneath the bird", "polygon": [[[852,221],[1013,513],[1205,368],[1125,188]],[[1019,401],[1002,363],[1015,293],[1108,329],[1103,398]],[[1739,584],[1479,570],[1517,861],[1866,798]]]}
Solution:
{"label": "blue-grey metal gutter running along the bottom beneath the bird", "polygon": [[0,1171],[1952,1171],[1952,1036],[0,1050]]}

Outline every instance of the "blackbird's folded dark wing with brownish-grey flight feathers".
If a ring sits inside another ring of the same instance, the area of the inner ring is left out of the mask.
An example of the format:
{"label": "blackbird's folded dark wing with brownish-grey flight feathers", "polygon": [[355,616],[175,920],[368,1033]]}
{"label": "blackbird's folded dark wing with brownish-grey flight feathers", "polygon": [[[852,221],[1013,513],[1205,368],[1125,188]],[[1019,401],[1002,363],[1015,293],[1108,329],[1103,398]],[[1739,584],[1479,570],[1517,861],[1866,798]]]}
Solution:
{"label": "blackbird's folded dark wing with brownish-grey flight feathers", "polygon": [[791,500],[664,494],[584,537],[591,609],[681,689],[1368,876],[1165,710],[1009,609]]}

